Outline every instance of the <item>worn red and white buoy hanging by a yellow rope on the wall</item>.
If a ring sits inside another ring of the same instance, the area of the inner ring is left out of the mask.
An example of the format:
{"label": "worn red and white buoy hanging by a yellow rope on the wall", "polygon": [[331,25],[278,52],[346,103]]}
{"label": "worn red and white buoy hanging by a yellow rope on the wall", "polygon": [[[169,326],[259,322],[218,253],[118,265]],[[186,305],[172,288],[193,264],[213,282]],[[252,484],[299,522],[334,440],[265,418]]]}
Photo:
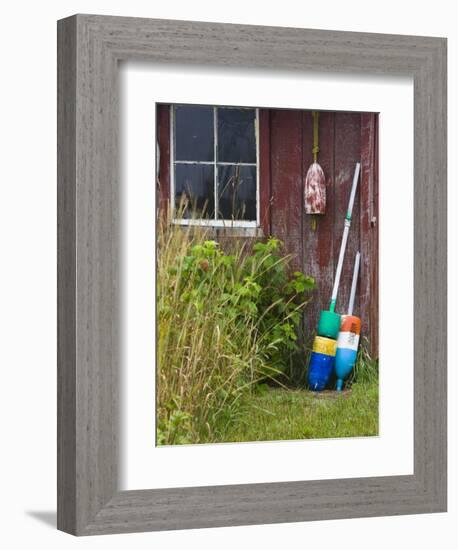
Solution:
{"label": "worn red and white buoy hanging by a yellow rope on the wall", "polygon": [[323,169],[318,164],[318,111],[312,111],[313,116],[313,164],[307,170],[304,185],[304,207],[306,214],[312,214],[312,229],[316,229],[316,215],[326,212],[326,178]]}

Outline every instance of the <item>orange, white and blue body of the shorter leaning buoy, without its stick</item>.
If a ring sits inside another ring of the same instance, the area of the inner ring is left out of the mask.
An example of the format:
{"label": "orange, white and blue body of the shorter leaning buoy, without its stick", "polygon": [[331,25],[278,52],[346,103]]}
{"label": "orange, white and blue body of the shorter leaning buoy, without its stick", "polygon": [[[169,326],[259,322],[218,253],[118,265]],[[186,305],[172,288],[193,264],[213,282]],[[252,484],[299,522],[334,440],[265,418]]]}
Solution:
{"label": "orange, white and blue body of the shorter leaning buoy, without its stick", "polygon": [[343,315],[335,358],[337,376],[337,391],[343,388],[344,380],[352,371],[358,355],[359,335],[361,333],[361,319],[354,315]]}

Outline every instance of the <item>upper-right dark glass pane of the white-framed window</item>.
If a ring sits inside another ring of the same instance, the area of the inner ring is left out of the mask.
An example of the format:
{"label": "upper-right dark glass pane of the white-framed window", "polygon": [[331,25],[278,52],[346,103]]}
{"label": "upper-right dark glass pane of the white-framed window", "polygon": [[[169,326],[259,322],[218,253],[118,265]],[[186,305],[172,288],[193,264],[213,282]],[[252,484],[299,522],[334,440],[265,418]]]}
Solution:
{"label": "upper-right dark glass pane of the white-framed window", "polygon": [[256,163],[254,109],[218,108],[218,161]]}

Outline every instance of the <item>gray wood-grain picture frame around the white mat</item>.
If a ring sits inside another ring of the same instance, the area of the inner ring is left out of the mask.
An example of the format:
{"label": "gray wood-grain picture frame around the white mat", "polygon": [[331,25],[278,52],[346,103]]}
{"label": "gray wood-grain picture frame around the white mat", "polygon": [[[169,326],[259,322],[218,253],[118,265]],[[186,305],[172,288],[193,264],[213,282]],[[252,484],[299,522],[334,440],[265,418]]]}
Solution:
{"label": "gray wood-grain picture frame around the white mat", "polygon": [[[413,77],[413,475],[118,489],[120,60]],[[97,15],[58,22],[59,529],[95,535],[446,511],[446,85],[444,38]]]}

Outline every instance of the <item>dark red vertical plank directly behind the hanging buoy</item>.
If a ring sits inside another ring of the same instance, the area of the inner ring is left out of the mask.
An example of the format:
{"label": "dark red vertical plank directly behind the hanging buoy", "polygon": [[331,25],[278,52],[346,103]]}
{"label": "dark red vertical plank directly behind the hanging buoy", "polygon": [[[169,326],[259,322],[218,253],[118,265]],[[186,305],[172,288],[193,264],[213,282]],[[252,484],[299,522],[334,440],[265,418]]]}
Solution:
{"label": "dark red vertical plank directly behind the hanging buoy", "polygon": [[[313,216],[316,230],[312,228],[312,216],[304,213],[304,272],[315,278],[317,289],[305,312],[304,328],[306,344],[316,332],[322,309],[328,309],[334,278],[334,113],[321,112],[319,117],[318,162],[326,177],[326,213]],[[303,112],[303,174],[304,179],[313,162],[313,118],[311,111]]]}

